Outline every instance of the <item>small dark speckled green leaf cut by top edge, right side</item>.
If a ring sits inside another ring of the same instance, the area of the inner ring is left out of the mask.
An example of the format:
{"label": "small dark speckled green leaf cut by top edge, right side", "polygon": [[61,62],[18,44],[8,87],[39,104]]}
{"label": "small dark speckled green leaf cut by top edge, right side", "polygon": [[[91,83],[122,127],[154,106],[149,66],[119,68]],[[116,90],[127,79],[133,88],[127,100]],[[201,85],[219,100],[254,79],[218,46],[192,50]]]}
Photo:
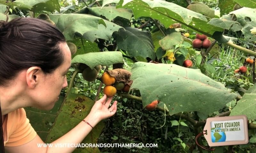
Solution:
{"label": "small dark speckled green leaf cut by top edge, right side", "polygon": [[233,0],[219,0],[220,16],[233,11],[235,5]]}

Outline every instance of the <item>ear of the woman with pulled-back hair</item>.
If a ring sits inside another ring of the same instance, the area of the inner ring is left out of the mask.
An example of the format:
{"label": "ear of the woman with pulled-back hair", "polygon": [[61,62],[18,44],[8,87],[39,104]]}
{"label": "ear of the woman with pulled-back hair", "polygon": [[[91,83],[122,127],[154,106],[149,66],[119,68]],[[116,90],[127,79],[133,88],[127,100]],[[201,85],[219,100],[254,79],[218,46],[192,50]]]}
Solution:
{"label": "ear of the woman with pulled-back hair", "polygon": [[39,79],[43,78],[42,77],[42,69],[38,66],[33,66],[30,67],[27,70],[26,73],[26,80],[27,80],[27,84],[28,84],[28,88],[33,89],[36,87],[36,85],[39,83]]}

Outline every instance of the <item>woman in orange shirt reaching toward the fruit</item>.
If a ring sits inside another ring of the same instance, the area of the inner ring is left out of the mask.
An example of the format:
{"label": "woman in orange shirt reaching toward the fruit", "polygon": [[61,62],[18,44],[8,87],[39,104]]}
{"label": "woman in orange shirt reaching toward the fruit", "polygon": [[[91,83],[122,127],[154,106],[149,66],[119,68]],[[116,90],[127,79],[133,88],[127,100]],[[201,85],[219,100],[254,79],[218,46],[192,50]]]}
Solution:
{"label": "woman in orange shirt reaching toward the fruit", "polygon": [[[5,151],[71,153],[76,149],[38,147],[37,143],[44,142],[29,124],[23,108],[52,109],[61,89],[68,86],[70,64],[70,50],[55,26],[37,18],[0,21],[0,116]],[[111,100],[104,95],[84,120],[52,143],[81,143],[100,120],[116,113],[117,101],[108,109]]]}

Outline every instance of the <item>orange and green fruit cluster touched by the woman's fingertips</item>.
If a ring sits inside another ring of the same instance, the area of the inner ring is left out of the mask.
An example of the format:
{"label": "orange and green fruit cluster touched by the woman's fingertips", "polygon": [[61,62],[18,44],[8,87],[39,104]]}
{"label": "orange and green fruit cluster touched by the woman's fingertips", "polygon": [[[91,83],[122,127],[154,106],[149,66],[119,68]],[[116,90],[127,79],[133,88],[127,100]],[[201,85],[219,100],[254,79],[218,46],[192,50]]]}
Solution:
{"label": "orange and green fruit cluster touched by the woman's fingertips", "polygon": [[108,72],[104,72],[101,76],[101,82],[106,86],[103,88],[103,93],[108,97],[112,97],[116,94],[116,91],[129,92],[130,86],[124,84],[124,82],[116,82],[116,78],[109,75]]}

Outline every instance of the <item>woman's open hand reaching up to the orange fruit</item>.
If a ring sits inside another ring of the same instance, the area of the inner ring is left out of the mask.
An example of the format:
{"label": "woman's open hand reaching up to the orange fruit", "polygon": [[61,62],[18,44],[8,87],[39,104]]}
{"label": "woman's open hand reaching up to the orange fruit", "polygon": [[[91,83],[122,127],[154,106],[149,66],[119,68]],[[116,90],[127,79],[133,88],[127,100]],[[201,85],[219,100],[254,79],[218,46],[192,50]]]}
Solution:
{"label": "woman's open hand reaching up to the orange fruit", "polygon": [[117,101],[114,101],[113,105],[110,108],[108,108],[112,101],[112,98],[113,97],[109,97],[107,100],[107,96],[106,94],[104,94],[104,96],[97,100],[95,104],[92,106],[89,115],[97,117],[99,121],[113,116],[116,113]]}

